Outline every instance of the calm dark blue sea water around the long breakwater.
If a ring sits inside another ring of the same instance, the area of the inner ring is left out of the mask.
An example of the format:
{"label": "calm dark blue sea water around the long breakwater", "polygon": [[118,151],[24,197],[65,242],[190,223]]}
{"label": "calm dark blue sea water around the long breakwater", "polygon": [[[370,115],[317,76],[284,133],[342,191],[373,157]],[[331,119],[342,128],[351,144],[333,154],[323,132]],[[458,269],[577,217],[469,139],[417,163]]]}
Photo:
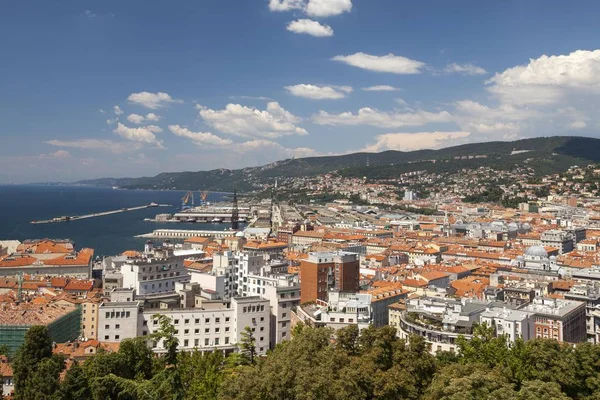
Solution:
{"label": "calm dark blue sea water around the long breakwater", "polygon": [[[0,186],[0,240],[68,238],[76,247],[91,247],[96,255],[114,255],[125,250],[143,248],[144,239],[135,235],[159,228],[221,230],[228,224],[186,224],[146,222],[159,213],[173,213],[181,208],[180,191],[112,190],[87,187]],[[210,193],[207,201],[223,200]],[[118,210],[151,202],[170,204],[104,217],[58,224],[32,225],[32,220],[61,215],[82,215]],[[198,202],[198,193],[196,193]]]}

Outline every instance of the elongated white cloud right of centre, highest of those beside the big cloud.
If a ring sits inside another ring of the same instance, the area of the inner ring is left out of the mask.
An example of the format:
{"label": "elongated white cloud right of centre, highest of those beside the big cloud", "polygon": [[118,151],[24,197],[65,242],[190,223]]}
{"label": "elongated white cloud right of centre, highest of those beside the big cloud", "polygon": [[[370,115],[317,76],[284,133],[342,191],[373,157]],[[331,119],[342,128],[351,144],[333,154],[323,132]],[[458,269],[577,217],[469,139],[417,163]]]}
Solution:
{"label": "elongated white cloud right of centre, highest of those beside the big cloud", "polygon": [[385,56],[355,53],[347,56],[335,56],[332,60],[369,71],[389,72],[392,74],[420,74],[421,69],[425,66],[425,63],[421,61],[396,56],[392,53]]}

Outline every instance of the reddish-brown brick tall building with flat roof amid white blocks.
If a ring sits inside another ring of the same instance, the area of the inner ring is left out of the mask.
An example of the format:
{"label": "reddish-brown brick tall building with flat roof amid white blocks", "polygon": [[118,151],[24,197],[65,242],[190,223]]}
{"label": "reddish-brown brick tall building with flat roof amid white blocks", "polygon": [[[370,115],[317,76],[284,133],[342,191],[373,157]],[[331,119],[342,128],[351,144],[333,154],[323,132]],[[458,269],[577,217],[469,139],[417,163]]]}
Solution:
{"label": "reddish-brown brick tall building with flat roof amid white blocks", "polygon": [[345,252],[309,253],[300,263],[300,303],[327,301],[327,291],[357,292],[359,255]]}

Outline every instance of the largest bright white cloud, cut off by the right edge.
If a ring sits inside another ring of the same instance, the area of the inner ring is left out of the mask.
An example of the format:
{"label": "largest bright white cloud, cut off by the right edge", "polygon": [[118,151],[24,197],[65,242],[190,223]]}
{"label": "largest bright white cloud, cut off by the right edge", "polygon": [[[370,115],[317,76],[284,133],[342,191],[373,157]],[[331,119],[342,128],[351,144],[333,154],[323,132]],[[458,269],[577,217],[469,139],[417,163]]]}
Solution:
{"label": "largest bright white cloud, cut off by the right edge", "polygon": [[497,73],[488,90],[505,103],[552,104],[570,92],[600,93],[600,50],[529,60]]}

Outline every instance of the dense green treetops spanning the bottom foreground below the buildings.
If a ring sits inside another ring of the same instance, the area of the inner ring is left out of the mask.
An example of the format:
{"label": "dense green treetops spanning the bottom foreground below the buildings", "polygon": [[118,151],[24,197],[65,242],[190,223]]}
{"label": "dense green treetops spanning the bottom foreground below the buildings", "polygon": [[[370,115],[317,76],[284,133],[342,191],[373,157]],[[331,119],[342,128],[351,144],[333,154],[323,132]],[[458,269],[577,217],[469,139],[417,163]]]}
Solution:
{"label": "dense green treetops spanning the bottom foreground below the buildings", "polygon": [[600,345],[576,347],[554,340],[509,345],[478,326],[459,354],[429,353],[423,338],[400,340],[393,327],[355,326],[337,332],[297,326],[293,339],[267,357],[254,357],[247,334],[242,354],[177,353],[167,319],[153,340],[166,344],[155,356],[142,340],[122,342],[70,367],[59,379],[58,360],[44,328],[32,328],[15,358],[17,399],[423,399],[598,400]]}

